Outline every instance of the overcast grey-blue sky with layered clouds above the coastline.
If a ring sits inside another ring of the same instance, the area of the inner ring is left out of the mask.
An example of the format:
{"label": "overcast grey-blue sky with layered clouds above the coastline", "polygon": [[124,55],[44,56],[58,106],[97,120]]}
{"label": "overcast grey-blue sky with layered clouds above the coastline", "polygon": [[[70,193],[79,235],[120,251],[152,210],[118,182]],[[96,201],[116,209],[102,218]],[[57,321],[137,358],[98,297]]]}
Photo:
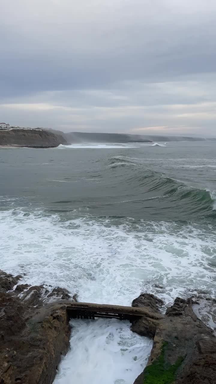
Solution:
{"label": "overcast grey-blue sky with layered clouds above the coastline", "polygon": [[0,121],[216,136],[215,0],[0,0]]}

